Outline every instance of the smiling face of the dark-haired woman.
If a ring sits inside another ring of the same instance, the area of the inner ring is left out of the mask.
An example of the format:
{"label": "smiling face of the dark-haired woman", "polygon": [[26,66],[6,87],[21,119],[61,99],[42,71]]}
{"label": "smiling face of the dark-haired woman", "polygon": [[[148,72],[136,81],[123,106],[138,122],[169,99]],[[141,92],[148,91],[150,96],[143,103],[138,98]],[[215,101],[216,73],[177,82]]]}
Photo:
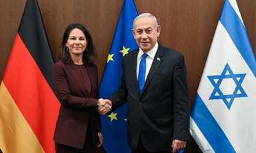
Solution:
{"label": "smiling face of the dark-haired woman", "polygon": [[67,39],[66,47],[69,48],[69,54],[73,56],[83,56],[87,46],[87,41],[85,34],[80,29],[73,29],[69,33],[69,38]]}

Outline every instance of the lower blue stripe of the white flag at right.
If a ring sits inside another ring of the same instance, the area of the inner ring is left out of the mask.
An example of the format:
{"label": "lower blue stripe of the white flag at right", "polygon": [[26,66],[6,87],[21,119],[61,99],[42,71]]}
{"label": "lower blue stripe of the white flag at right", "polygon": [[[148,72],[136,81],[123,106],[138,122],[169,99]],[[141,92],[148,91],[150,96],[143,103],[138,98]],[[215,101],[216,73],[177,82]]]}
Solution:
{"label": "lower blue stripe of the white flag at right", "polygon": [[[195,102],[191,110],[191,117],[215,152],[235,152],[233,146],[229,142],[229,139],[216,122],[207,106],[205,106],[205,103],[199,94],[195,96]],[[207,118],[207,120],[205,120],[205,118]],[[211,128],[211,130],[209,130],[209,128]]]}

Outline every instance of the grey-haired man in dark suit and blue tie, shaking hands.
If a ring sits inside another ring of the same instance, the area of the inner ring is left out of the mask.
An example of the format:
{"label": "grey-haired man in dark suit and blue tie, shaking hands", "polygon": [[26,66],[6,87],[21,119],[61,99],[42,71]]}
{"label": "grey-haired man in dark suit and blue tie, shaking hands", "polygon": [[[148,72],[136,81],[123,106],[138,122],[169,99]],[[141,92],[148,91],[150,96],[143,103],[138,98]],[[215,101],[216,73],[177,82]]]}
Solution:
{"label": "grey-haired man in dark suit and blue tie, shaking hands", "polygon": [[[161,27],[150,13],[136,17],[132,31],[139,49],[123,57],[121,85],[99,105],[109,104],[113,111],[128,102],[127,139],[132,153],[177,152],[189,140],[184,57],[157,42]],[[109,112],[99,108],[100,114]]]}

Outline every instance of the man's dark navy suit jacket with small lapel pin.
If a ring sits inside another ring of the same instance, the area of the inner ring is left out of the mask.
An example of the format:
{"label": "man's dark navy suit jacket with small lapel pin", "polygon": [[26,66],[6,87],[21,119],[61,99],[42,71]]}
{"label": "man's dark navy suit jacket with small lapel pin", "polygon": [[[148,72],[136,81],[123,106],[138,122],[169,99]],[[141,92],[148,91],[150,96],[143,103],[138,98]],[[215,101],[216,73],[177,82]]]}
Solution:
{"label": "man's dark navy suit jacket with small lapel pin", "polygon": [[149,152],[172,150],[174,139],[189,140],[189,92],[183,55],[159,44],[142,92],[137,83],[135,49],[123,57],[121,85],[109,99],[112,111],[127,103],[127,139],[139,138]]}

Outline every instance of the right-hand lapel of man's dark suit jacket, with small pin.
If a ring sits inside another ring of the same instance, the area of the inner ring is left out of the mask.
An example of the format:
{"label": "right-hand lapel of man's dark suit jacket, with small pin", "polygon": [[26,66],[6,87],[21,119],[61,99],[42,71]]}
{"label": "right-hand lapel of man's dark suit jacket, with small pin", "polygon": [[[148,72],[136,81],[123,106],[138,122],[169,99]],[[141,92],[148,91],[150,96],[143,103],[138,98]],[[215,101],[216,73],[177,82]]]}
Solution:
{"label": "right-hand lapel of man's dark suit jacket, with small pin", "polygon": [[147,75],[147,79],[145,81],[145,84],[143,86],[141,94],[143,94],[143,91],[145,90],[145,88],[147,88],[147,86],[151,82],[153,76],[157,72],[157,69],[161,65],[162,62],[163,62],[163,49],[162,49],[162,46],[159,43],[159,47],[157,49],[157,53],[155,54],[155,57],[153,59],[153,63],[152,63],[151,68],[149,70],[149,74]]}

